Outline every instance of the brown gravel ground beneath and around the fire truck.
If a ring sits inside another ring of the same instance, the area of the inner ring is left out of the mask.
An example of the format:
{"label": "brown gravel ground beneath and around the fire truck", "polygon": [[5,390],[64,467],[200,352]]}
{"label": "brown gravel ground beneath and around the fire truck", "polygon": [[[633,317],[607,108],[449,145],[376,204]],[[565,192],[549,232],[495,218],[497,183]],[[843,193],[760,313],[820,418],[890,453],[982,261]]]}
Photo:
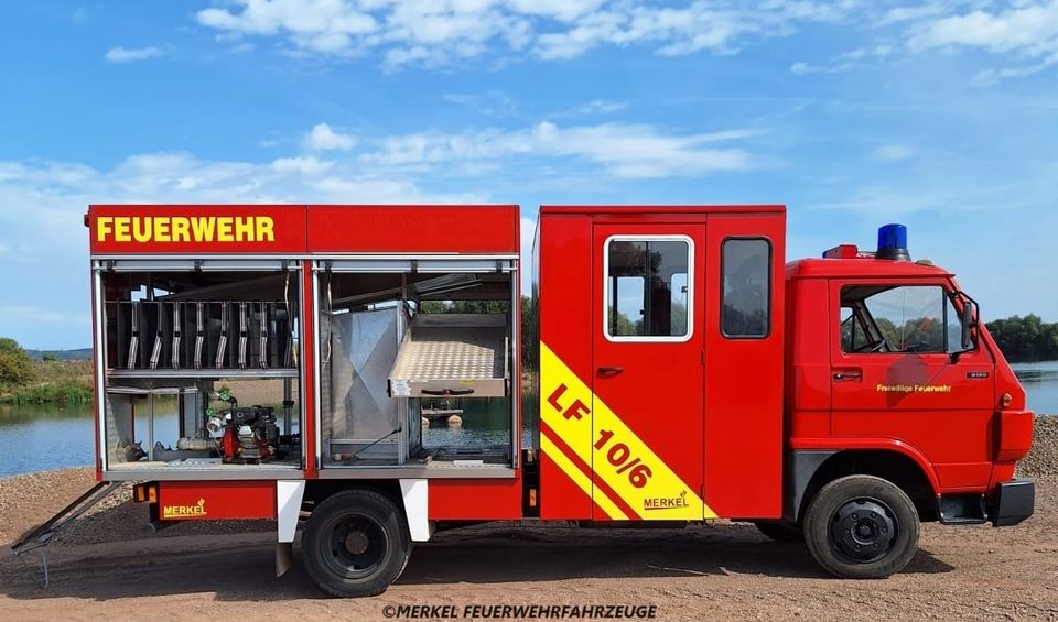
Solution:
{"label": "brown gravel ground beneath and around the fire truck", "polygon": [[[908,569],[883,581],[825,577],[802,545],[747,525],[683,531],[490,524],[418,545],[400,581],[373,599],[323,598],[300,561],[272,576],[269,522],[142,530],[122,490],[36,561],[0,555],[0,612],[13,620],[141,616],[382,620],[387,605],[655,604],[661,620],[1058,620],[1058,417],[1037,419],[1019,472],[1037,479],[1022,525],[922,526]],[[47,519],[93,481],[89,469],[0,479],[0,542]],[[296,553],[296,550],[295,550]],[[436,619],[436,618],[431,618]]]}

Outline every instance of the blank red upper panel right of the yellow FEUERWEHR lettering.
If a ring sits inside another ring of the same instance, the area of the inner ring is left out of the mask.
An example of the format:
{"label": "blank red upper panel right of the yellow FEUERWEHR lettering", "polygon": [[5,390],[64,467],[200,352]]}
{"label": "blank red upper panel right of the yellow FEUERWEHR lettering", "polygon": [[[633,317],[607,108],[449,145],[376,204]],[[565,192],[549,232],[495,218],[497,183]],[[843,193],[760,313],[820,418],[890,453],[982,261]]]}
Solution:
{"label": "blank red upper panel right of the yellow FEUERWEHR lettering", "polygon": [[309,206],[309,250],[515,253],[518,206]]}

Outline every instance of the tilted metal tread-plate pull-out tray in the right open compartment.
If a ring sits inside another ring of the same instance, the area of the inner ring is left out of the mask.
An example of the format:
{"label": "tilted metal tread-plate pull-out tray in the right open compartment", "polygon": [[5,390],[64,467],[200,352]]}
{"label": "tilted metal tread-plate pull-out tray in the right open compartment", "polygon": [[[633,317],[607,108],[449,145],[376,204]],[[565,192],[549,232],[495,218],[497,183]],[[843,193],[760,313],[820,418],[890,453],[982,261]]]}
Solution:
{"label": "tilted metal tread-plate pull-out tray in the right open compartment", "polygon": [[507,316],[418,314],[389,374],[393,397],[507,395]]}

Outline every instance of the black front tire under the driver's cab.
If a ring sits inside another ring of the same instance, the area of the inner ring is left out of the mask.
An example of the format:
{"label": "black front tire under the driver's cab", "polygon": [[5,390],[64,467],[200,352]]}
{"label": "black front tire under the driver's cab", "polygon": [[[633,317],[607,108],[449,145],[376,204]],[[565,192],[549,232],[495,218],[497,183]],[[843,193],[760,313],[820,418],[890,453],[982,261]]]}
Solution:
{"label": "black front tire under the driver's cab", "polygon": [[884,579],[918,550],[918,512],[895,484],[849,476],[824,485],[805,513],[805,543],[827,571],[845,579]]}

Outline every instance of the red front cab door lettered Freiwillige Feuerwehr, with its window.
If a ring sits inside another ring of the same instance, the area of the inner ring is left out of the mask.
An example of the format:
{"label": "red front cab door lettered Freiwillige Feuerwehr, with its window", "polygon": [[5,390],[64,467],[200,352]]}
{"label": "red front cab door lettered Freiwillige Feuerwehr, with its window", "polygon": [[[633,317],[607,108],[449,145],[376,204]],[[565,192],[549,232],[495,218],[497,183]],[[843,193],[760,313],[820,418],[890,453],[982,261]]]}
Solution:
{"label": "red front cab door lettered Freiwillige Feuerwehr, with its window", "polygon": [[946,491],[991,474],[994,361],[961,350],[950,284],[835,280],[830,287],[834,436],[907,448]]}

